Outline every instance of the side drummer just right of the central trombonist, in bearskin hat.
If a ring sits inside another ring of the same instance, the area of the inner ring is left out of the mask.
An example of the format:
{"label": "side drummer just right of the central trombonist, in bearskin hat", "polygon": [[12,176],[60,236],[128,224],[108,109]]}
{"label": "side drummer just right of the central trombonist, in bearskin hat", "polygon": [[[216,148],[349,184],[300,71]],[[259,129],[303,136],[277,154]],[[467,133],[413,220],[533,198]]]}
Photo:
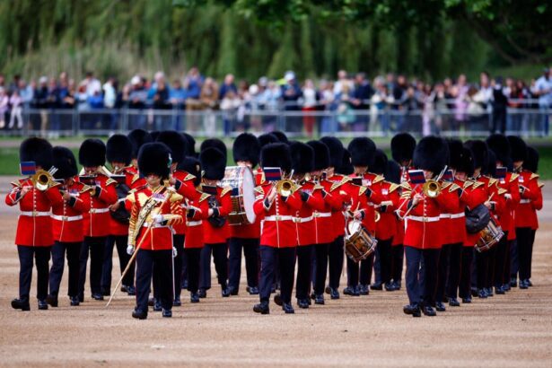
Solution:
{"label": "side drummer just right of the central trombonist, in bearskin hat", "polygon": [[[351,210],[355,218],[362,220],[366,230],[374,236],[376,230],[374,206],[381,203],[380,186],[383,181],[381,175],[368,171],[374,162],[376,146],[372,139],[358,137],[351,141],[347,149],[351,153],[351,163],[355,170],[352,177],[362,179],[362,186],[351,186],[355,190]],[[361,295],[369,294],[373,257],[372,253],[362,260],[360,265],[355,260],[347,258],[347,285],[353,288],[353,291],[358,289]]]}

